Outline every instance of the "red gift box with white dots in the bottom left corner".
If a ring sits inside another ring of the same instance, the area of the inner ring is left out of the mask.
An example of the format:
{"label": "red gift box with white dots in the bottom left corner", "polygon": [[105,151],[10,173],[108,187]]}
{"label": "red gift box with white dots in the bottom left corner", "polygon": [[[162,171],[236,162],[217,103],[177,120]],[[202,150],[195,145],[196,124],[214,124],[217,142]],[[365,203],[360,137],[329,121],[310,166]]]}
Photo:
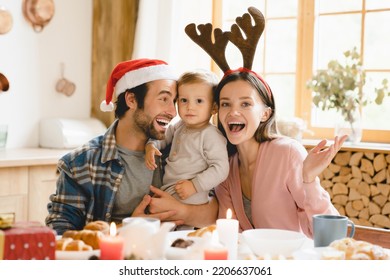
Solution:
{"label": "red gift box with white dots in the bottom left corner", "polygon": [[55,231],[39,222],[0,230],[0,260],[54,260]]}

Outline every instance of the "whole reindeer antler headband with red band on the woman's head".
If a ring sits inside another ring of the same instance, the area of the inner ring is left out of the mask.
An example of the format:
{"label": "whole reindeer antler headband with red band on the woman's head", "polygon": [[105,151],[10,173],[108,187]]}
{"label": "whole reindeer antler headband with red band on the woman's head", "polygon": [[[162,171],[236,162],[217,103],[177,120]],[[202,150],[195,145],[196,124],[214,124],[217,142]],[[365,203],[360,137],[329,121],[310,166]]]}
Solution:
{"label": "whole reindeer antler headband with red band on the woman's head", "polygon": [[[220,28],[215,28],[214,43],[212,40],[213,26],[211,23],[198,25],[199,35],[195,23],[188,24],[185,32],[215,61],[218,67],[224,72],[224,77],[233,72],[250,72],[263,83],[268,95],[271,96],[272,94],[268,84],[259,74],[252,71],[257,43],[264,31],[264,16],[255,7],[249,7],[248,12],[249,14],[245,13],[242,17],[236,18],[236,24],[231,26],[231,31],[222,32]],[[253,17],[254,25],[252,25],[251,16]],[[240,28],[245,33],[246,39],[243,37]],[[236,70],[231,70],[226,61],[225,50],[229,41],[240,50],[244,62],[243,67]]]}

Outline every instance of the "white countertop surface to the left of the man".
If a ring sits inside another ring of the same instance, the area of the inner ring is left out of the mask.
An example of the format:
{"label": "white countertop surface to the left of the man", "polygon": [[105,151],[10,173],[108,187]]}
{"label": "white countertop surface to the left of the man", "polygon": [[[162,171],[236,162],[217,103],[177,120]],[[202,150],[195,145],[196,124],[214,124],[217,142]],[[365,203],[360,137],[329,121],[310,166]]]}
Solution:
{"label": "white countertop surface to the left of the man", "polygon": [[43,148],[15,148],[0,150],[0,168],[57,164],[70,150]]}

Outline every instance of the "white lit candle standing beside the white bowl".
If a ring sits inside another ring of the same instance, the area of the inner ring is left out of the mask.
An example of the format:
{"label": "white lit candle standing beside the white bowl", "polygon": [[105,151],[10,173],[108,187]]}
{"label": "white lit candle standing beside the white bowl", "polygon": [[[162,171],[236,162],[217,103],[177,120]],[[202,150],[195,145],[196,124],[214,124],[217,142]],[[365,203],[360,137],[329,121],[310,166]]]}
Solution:
{"label": "white lit candle standing beside the white bowl", "polygon": [[219,241],[229,252],[229,260],[237,259],[238,249],[238,221],[232,219],[232,210],[226,211],[226,219],[217,220]]}

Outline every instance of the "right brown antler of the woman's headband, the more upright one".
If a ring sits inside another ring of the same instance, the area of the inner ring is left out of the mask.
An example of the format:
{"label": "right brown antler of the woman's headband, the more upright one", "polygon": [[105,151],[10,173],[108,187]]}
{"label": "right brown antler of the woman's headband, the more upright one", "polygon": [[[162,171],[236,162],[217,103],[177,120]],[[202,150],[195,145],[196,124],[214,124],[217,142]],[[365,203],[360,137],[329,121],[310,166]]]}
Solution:
{"label": "right brown antler of the woman's headband, the more upright one", "polygon": [[[253,17],[255,22],[254,26],[252,26],[250,15],[245,13],[242,17],[236,18],[237,24],[233,24],[231,32],[226,33],[229,40],[240,50],[244,60],[244,68],[251,70],[257,42],[263,33],[265,21],[263,14],[255,7],[249,7],[248,12]],[[244,39],[239,27],[244,31],[247,39]]]}

